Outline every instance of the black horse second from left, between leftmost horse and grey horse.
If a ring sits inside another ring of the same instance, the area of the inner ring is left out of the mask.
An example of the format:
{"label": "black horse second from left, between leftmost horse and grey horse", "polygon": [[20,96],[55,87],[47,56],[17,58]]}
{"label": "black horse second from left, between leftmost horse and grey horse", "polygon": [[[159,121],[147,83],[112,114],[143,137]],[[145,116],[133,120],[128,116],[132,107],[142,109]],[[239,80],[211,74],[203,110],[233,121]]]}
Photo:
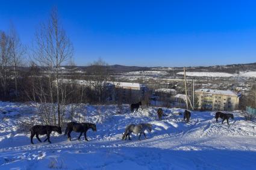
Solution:
{"label": "black horse second from left, between leftmost horse and grey horse", "polygon": [[88,129],[92,129],[93,132],[96,132],[96,124],[93,123],[76,123],[76,122],[70,122],[67,123],[67,128],[65,130],[65,135],[67,135],[67,139],[71,141],[70,133],[73,131],[80,132],[80,136],[78,137],[78,141],[80,141],[80,137],[84,133],[84,139],[88,141],[86,138],[86,132]]}

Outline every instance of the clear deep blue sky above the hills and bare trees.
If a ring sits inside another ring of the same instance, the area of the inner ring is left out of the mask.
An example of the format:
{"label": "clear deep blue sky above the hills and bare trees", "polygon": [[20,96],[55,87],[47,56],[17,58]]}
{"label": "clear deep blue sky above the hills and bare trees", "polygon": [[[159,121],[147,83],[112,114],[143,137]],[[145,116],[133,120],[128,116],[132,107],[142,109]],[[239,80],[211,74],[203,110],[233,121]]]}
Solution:
{"label": "clear deep blue sky above the hills and bare trees", "polygon": [[26,45],[58,7],[77,65],[198,66],[256,62],[255,1],[2,1]]}

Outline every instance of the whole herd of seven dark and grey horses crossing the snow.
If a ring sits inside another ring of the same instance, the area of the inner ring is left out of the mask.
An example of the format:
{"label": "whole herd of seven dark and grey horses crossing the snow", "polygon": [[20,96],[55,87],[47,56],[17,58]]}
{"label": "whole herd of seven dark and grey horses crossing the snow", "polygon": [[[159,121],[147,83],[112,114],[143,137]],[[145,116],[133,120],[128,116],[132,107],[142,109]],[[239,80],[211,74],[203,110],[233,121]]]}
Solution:
{"label": "whole herd of seven dark and grey horses crossing the snow", "polygon": [[[136,103],[136,104],[131,104],[131,112],[134,112],[134,109],[136,109],[135,112],[138,112],[138,109],[140,108],[141,105],[142,105],[141,102]],[[157,111],[157,115],[158,115],[158,119],[161,120],[162,117],[164,116],[163,109],[159,108]],[[184,114],[183,114],[184,121],[186,120],[187,123],[189,123],[190,117],[191,117],[191,113],[189,111],[185,110]],[[225,120],[228,123],[229,118],[234,119],[234,115],[233,114],[224,114],[222,112],[216,112],[215,118],[216,118],[216,122],[218,121],[218,118],[222,118],[222,124],[223,124],[223,121],[225,121]],[[228,125],[229,125],[229,123],[228,123]],[[78,132],[78,133],[80,133],[80,136],[78,137],[78,141],[80,141],[80,138],[84,133],[84,139],[86,141],[88,141],[86,132],[89,129],[92,129],[93,132],[96,132],[96,130],[97,130],[96,124],[70,122],[70,123],[67,123],[67,127],[66,127],[64,135],[67,135],[67,139],[69,139],[69,141],[71,141],[70,133],[72,131]],[[131,138],[130,138],[131,133],[135,133],[136,135],[139,135],[139,140],[140,140],[141,135],[144,135],[145,139],[147,139],[145,130],[148,130],[149,132],[151,132],[152,124],[149,124],[149,123],[130,124],[130,125],[126,126],[125,133],[123,133],[123,136],[122,136],[122,140],[126,140],[127,137],[129,140],[131,140]],[[57,132],[57,133],[61,134],[62,130],[61,130],[60,126],[36,125],[36,126],[31,127],[30,132],[31,132],[31,136],[30,136],[31,144],[34,144],[33,138],[35,135],[39,142],[42,142],[39,138],[39,135],[46,135],[47,137],[46,137],[45,141],[43,141],[43,142],[48,141],[49,143],[51,143],[51,141],[50,141],[51,132]]]}

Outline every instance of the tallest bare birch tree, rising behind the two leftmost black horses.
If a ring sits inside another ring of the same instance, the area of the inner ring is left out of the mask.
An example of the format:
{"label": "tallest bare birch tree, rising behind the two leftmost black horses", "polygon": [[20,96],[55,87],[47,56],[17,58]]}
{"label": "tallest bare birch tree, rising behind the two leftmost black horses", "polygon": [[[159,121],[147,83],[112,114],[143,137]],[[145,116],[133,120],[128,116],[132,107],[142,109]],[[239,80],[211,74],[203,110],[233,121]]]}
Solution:
{"label": "tallest bare birch tree, rising behind the two leftmost black horses", "polygon": [[[42,23],[39,31],[36,32],[36,49],[34,52],[39,64],[47,70],[50,88],[49,96],[51,96],[52,103],[57,103],[58,126],[60,126],[60,67],[61,64],[73,56],[73,46],[60,24],[57,8],[52,9],[48,22]],[[55,78],[54,81],[52,76]],[[54,95],[57,97],[56,101],[54,100]],[[54,107],[54,105],[52,106]]]}

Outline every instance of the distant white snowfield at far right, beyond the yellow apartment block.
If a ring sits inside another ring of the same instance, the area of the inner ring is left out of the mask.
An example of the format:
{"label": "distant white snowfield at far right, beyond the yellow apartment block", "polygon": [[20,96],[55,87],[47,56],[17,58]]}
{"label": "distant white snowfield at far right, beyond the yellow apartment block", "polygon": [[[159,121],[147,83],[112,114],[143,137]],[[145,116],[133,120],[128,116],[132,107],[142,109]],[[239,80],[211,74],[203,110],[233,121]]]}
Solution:
{"label": "distant white snowfield at far right, beyond the yellow apartment block", "polygon": [[[178,72],[177,74],[184,75],[184,72]],[[207,71],[187,71],[186,75],[195,77],[256,77],[256,71],[241,72],[239,74]]]}

